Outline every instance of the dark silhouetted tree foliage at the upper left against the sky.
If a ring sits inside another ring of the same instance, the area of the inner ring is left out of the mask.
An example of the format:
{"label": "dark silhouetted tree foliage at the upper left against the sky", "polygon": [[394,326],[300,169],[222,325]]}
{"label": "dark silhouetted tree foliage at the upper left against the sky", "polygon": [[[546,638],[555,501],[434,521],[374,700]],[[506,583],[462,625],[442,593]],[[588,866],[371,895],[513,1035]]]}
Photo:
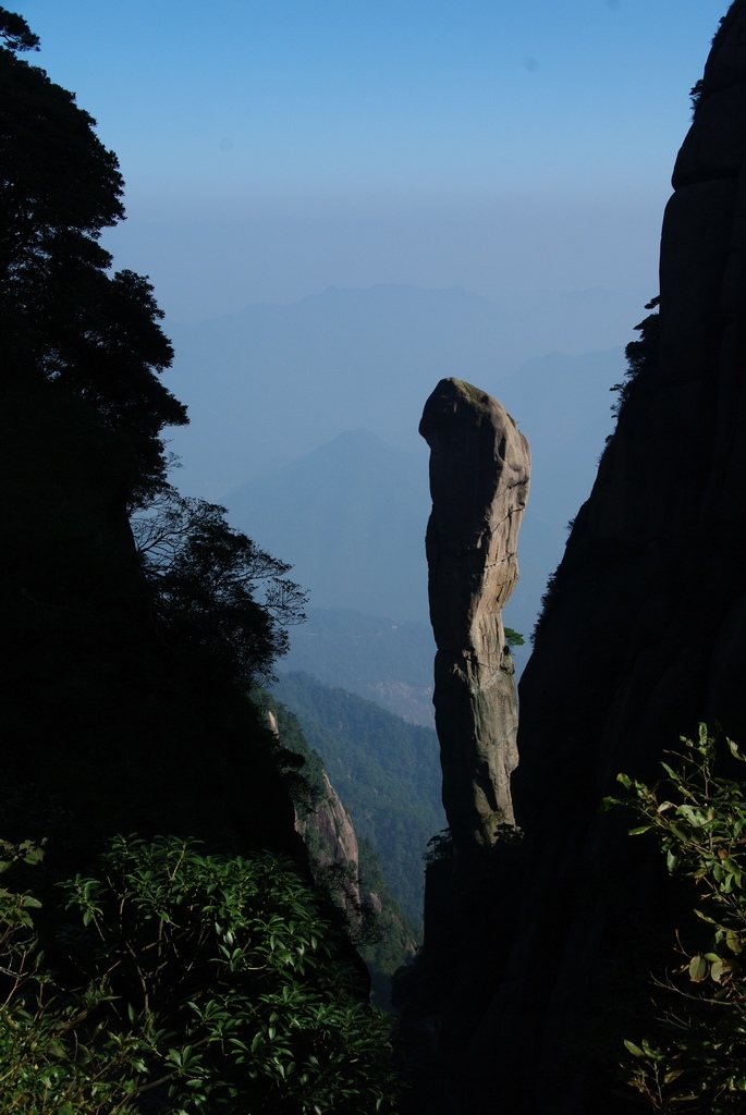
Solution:
{"label": "dark silhouetted tree foliage at the upper left against the sky", "polygon": [[116,155],[75,96],[18,58],[38,39],[0,9],[0,331],[10,381],[86,400],[126,446],[135,502],[164,482],[161,432],[186,410],[159,381],[173,350],[147,279],[109,275],[101,231],[124,217]]}

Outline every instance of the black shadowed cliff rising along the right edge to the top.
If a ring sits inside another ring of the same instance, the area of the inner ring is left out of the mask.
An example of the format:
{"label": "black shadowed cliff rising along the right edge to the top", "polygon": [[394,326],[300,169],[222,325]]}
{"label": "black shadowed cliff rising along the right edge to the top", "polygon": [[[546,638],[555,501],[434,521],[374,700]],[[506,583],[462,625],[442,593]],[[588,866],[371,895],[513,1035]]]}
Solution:
{"label": "black shadowed cliff rising along the right edge to the top", "polygon": [[484,938],[491,918],[503,958],[474,990],[469,946],[452,944],[450,998],[435,1009],[443,1025],[458,1009],[448,1041],[459,1063],[434,1111],[639,1109],[614,1072],[622,1039],[645,1029],[675,894],[655,850],[599,805],[620,770],[655,779],[662,752],[699,720],[746,740],[745,168],[736,0],[676,164],[659,317],[646,323],[521,682],[521,885],[496,910],[496,878],[483,912],[468,890],[473,923],[462,919],[454,938]]}

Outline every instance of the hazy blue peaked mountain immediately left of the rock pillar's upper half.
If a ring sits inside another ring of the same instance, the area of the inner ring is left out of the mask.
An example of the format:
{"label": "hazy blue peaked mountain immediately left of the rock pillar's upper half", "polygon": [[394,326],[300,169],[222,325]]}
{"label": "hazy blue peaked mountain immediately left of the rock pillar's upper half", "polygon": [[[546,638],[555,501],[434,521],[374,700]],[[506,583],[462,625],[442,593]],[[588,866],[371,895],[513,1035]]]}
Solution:
{"label": "hazy blue peaked mountain immediately left of the rock pillar's upper half", "polygon": [[347,430],[227,498],[231,520],[293,565],[317,608],[427,618],[426,463]]}

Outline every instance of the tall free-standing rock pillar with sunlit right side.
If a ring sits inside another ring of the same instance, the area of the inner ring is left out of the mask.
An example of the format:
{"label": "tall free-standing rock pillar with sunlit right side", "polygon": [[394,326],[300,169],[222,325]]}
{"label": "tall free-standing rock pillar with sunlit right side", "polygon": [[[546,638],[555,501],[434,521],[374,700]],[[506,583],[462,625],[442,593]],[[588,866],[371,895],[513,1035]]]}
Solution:
{"label": "tall free-standing rock pillar with sunlit right side", "polygon": [[419,433],[430,447],[426,550],[443,804],[466,852],[514,824],[517,697],[501,612],[519,576],[531,457],[501,404],[459,379],[440,380]]}

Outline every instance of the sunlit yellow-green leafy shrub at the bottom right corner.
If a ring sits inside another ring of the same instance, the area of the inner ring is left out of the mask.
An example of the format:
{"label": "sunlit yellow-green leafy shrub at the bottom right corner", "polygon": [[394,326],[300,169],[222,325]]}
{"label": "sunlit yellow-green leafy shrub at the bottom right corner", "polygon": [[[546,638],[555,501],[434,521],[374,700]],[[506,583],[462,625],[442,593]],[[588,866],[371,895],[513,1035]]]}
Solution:
{"label": "sunlit yellow-green leafy shrub at the bottom right corner", "polygon": [[[697,927],[677,933],[679,963],[657,993],[668,1004],[655,1039],[626,1041],[628,1083],[655,1112],[719,1113],[746,1106],[746,789],[715,774],[716,741],[705,725],[663,763],[665,793],[619,775],[620,802],[651,834],[669,872],[694,881]],[[732,763],[746,757],[727,740]],[[701,935],[704,933],[704,935]],[[685,940],[686,939],[686,940]]]}

